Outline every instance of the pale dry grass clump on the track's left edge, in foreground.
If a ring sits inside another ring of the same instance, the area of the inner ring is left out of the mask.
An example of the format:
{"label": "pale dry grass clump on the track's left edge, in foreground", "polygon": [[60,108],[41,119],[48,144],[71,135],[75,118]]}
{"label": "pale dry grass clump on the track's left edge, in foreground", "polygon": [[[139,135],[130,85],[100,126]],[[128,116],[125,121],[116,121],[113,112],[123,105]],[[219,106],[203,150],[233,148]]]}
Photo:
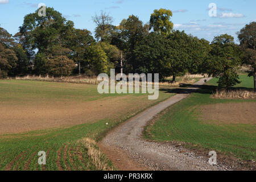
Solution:
{"label": "pale dry grass clump on the track's left edge, in foreground", "polygon": [[90,138],[83,138],[77,141],[77,144],[80,144],[88,149],[88,155],[92,159],[92,163],[99,171],[115,171],[116,168],[113,165],[110,165],[110,160],[102,153],[96,146],[96,142]]}

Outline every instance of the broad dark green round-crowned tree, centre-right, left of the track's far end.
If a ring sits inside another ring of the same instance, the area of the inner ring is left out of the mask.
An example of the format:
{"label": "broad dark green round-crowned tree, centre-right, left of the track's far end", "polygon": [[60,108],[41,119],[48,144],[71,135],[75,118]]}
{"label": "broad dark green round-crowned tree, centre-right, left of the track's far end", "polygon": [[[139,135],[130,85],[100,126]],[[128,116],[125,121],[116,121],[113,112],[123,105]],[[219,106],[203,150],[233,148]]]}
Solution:
{"label": "broad dark green round-crowned tree, centre-right, left of the track's far end", "polygon": [[199,72],[200,64],[206,59],[208,50],[204,40],[188,36],[184,31],[173,31],[165,36],[151,32],[135,48],[138,73],[159,73],[164,77],[182,76],[186,72]]}

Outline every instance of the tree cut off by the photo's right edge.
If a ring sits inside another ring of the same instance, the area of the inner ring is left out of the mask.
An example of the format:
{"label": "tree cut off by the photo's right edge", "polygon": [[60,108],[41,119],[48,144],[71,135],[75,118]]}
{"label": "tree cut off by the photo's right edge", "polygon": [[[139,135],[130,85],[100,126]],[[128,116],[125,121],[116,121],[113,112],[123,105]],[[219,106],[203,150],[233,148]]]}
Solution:
{"label": "tree cut off by the photo's right edge", "polygon": [[241,48],[245,51],[243,64],[251,67],[249,76],[254,77],[254,92],[256,92],[256,22],[246,24],[246,26],[238,32],[238,39],[240,40]]}

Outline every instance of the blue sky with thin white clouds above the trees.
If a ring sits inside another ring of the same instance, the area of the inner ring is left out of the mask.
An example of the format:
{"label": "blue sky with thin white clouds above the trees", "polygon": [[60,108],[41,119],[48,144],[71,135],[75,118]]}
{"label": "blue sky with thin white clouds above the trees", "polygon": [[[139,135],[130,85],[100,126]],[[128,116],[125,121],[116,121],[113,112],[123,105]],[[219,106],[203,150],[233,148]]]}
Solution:
{"label": "blue sky with thin white clouds above the trees", "polygon": [[[170,9],[175,29],[209,41],[224,33],[237,40],[236,32],[245,24],[256,21],[255,0],[0,0],[1,27],[15,34],[24,15],[33,13],[39,3],[62,13],[75,23],[76,28],[86,28],[92,33],[95,28],[92,16],[101,10],[109,12],[117,25],[131,14],[147,23],[155,9]],[[209,16],[210,3],[216,3],[217,17]]]}

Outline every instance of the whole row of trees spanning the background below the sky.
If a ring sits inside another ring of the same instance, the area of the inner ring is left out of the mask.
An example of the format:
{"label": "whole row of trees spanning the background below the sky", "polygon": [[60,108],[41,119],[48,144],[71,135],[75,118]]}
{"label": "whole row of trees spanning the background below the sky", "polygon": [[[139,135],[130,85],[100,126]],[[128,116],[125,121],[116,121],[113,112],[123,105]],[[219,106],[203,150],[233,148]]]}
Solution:
{"label": "whole row of trees spanning the background below the sky", "polygon": [[[125,73],[159,73],[160,79],[185,73],[208,73],[220,77],[219,85],[237,84],[237,69],[250,65],[255,75],[255,22],[238,33],[240,46],[224,34],[212,43],[184,31],[173,30],[172,11],[160,9],[143,24],[137,16],[113,26],[109,14],[93,17],[95,38],[88,30],[74,28],[70,20],[47,7],[46,16],[24,17],[19,32],[11,36],[0,29],[0,77],[27,74],[88,76],[108,73],[110,68]],[[256,80],[255,80],[256,81]]]}

